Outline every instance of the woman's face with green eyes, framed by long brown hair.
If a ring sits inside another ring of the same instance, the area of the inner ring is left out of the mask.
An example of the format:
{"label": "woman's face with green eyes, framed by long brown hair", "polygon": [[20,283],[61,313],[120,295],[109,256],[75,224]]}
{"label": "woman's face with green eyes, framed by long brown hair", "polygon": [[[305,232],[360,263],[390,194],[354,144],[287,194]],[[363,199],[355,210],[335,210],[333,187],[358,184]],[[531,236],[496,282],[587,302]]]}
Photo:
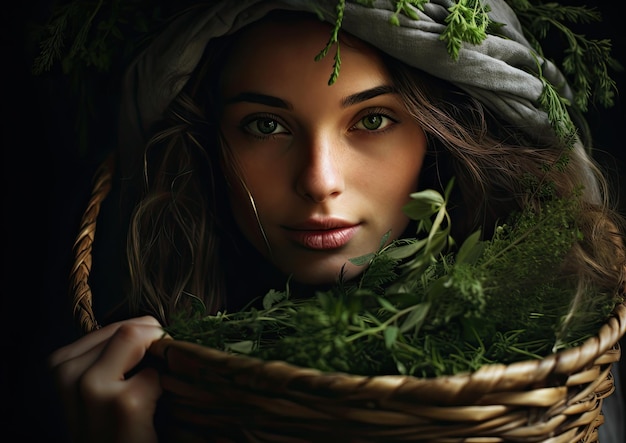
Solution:
{"label": "woman's face with green eyes, framed by long brown hair", "polygon": [[362,268],[348,259],[376,251],[388,231],[402,234],[426,152],[373,50],[343,42],[328,85],[334,50],[314,57],[329,32],[315,19],[258,24],[238,41],[221,85],[237,224],[282,272],[311,284],[336,281],[344,265],[354,277]]}

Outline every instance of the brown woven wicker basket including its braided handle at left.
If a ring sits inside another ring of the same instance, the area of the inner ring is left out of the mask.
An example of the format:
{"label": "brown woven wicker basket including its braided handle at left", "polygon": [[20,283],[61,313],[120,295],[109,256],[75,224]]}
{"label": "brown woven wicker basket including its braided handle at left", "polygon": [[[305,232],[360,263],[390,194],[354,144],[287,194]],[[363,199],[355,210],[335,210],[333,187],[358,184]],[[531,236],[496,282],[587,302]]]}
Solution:
{"label": "brown woven wicker basket including its braided handle at left", "polygon": [[[83,331],[91,304],[91,245],[112,160],[96,173],[77,237],[71,295]],[[615,389],[626,304],[581,346],[541,360],[421,379],[323,373],[164,339],[157,427],[164,441],[595,442]]]}

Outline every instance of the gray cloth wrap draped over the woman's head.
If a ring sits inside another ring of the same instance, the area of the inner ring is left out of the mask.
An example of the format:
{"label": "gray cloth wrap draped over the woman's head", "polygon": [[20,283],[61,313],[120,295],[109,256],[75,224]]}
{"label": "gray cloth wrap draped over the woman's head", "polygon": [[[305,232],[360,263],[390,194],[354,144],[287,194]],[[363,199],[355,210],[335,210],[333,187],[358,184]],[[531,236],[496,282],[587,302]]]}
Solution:
{"label": "gray cloth wrap draped over the woman's head", "polygon": [[[464,43],[457,60],[451,58],[440,39],[452,0],[431,0],[424,11],[416,9],[418,20],[400,15],[400,26],[390,23],[394,6],[388,0],[375,1],[374,7],[348,1],[341,29],[450,81],[530,134],[551,132],[548,116],[538,105],[544,87],[539,70],[562,97],[571,99],[565,78],[552,62],[541,59],[531,48],[504,0],[486,3],[491,19],[505,26],[500,35],[488,35],[480,45]],[[333,24],[336,4],[337,0],[225,0],[178,16],[128,70],[120,121],[122,152],[136,151],[143,145],[150,126],[182,89],[210,39],[233,33],[279,8],[316,12]]]}

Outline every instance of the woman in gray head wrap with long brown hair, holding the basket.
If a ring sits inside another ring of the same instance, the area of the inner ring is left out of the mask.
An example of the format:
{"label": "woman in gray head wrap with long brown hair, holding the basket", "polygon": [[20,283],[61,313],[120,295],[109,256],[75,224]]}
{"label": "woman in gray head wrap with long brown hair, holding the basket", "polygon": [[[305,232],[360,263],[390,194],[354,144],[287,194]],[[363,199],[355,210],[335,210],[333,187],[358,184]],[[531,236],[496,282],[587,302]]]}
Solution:
{"label": "woman in gray head wrap with long brown hair, holding the basket", "polygon": [[134,368],[189,295],[233,311],[287,277],[300,293],[352,279],[362,268],[350,258],[415,232],[409,194],[453,177],[457,239],[537,205],[529,183],[558,196],[582,187],[585,241],[567,272],[623,290],[606,183],[574,120],[536,104],[546,79],[569,96],[563,77],[537,63],[503,2],[490,14],[507,38],[454,60],[438,38],[444,3],[425,6],[431,22],[397,28],[387,7],[348,3],[340,58],[318,60],[332,3],[216,3],[182,15],[131,66],[118,164],[128,303],[107,300],[108,324],[51,356],[76,441],[157,440],[158,373]]}

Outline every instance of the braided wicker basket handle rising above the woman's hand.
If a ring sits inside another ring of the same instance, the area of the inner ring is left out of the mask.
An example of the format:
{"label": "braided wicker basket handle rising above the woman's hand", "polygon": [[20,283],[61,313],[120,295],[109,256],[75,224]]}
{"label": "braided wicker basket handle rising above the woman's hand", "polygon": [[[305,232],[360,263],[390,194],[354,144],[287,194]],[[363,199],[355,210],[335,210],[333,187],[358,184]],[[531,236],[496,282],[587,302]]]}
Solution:
{"label": "braided wicker basket handle rising above the woman's hand", "polygon": [[111,190],[113,165],[114,156],[111,154],[94,174],[91,197],[83,212],[80,229],[72,249],[74,257],[74,264],[70,273],[72,312],[83,334],[100,328],[93,312],[89,273],[91,272],[91,252],[96,233],[96,220],[100,212],[100,205]]}

